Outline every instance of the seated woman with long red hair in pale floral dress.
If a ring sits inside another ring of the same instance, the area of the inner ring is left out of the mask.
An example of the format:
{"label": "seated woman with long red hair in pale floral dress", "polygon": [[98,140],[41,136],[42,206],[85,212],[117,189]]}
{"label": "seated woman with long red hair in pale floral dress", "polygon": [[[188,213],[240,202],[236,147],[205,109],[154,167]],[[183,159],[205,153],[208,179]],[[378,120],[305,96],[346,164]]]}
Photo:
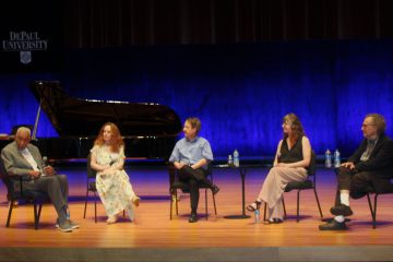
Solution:
{"label": "seated woman with long red hair in pale floral dress", "polygon": [[107,122],[100,128],[91,153],[91,166],[97,171],[97,191],[108,215],[107,224],[116,223],[122,211],[133,221],[133,206],[138,206],[141,199],[132,190],[124,171],[124,142],[115,123]]}

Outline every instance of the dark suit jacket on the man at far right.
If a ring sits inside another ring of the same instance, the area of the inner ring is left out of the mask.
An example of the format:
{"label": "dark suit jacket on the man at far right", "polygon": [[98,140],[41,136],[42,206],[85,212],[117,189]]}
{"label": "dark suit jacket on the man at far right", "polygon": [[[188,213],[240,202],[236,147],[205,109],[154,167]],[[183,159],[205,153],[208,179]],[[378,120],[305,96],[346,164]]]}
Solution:
{"label": "dark suit jacket on the man at far right", "polygon": [[358,171],[370,171],[379,178],[393,177],[393,141],[386,135],[378,139],[376,147],[371,152],[370,158],[360,162],[362,153],[367,148],[367,140],[362,140],[360,146],[348,158],[348,162],[355,163]]}

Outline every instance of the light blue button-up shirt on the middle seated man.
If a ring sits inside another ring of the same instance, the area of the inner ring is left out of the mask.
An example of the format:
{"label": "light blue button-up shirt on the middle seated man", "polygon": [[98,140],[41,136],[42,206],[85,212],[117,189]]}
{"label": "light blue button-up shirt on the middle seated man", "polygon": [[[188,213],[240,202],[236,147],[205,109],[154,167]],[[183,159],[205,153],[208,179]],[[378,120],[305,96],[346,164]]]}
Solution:
{"label": "light blue button-up shirt on the middle seated man", "polygon": [[196,136],[192,141],[179,140],[170,155],[169,162],[181,162],[193,165],[201,159],[213,160],[213,153],[207,140]]}

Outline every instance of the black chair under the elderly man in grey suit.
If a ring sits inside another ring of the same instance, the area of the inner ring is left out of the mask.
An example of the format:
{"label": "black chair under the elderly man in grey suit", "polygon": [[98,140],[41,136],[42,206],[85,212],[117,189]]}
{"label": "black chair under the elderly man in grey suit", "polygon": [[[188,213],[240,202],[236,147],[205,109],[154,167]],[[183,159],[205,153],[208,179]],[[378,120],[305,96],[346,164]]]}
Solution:
{"label": "black chair under the elderly man in grey suit", "polygon": [[5,227],[10,227],[12,210],[14,202],[24,201],[26,203],[33,203],[34,206],[34,228],[38,229],[39,217],[43,209],[43,204],[48,200],[48,195],[45,192],[36,190],[24,190],[23,181],[28,179],[24,176],[9,176],[0,158],[0,176],[7,186],[8,199],[10,201],[9,214],[7,218]]}

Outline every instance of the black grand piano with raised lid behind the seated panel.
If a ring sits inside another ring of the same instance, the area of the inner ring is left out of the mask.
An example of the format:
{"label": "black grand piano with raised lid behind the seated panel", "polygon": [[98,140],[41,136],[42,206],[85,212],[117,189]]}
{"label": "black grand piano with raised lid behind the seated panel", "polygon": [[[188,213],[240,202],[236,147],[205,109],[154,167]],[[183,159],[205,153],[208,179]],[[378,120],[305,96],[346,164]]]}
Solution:
{"label": "black grand piano with raised lid behind the seated panel", "polygon": [[59,134],[36,138],[39,109],[32,136],[50,159],[86,158],[99,128],[114,122],[123,135],[127,157],[167,160],[182,129],[177,114],[164,105],[75,98],[58,81],[35,81],[31,90]]}

